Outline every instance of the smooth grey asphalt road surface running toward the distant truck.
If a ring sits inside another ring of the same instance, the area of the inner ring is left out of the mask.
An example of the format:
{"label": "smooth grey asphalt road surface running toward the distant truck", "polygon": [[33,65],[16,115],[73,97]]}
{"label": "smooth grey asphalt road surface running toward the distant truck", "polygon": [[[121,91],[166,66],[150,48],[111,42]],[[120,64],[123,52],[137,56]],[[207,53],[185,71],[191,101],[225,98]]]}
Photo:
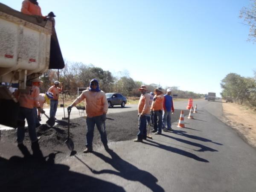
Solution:
{"label": "smooth grey asphalt road surface running toward the distant truck", "polygon": [[[175,131],[151,134],[153,140],[143,143],[110,142],[110,151],[96,148],[93,153],[84,154],[78,150],[71,156],[67,151],[52,149],[47,153],[47,163],[41,166],[27,162],[15,151],[1,152],[2,176],[11,172],[17,181],[16,185],[11,181],[1,183],[0,177],[1,191],[255,192],[255,148],[221,122],[220,101],[195,103],[198,113],[194,114],[195,119],[185,116],[186,128],[177,128],[176,120],[172,123]],[[186,104],[174,103],[173,121]],[[120,110],[134,113],[136,109],[134,105]],[[137,118],[131,121],[136,122]],[[0,146],[1,150],[8,151]],[[43,148],[42,151],[46,154]],[[23,179],[18,174],[23,171],[31,175]]]}

